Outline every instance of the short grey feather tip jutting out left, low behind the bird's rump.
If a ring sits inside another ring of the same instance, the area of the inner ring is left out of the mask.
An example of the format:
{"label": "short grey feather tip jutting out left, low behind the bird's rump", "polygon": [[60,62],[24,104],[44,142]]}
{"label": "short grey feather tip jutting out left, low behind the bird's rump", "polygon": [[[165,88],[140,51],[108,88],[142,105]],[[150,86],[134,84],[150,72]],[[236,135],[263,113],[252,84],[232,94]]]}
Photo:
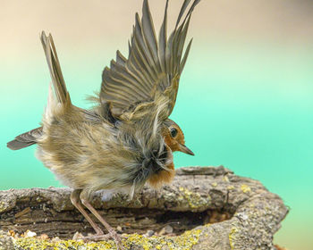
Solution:
{"label": "short grey feather tip jutting out left, low behind the bird's rump", "polygon": [[31,129],[30,131],[15,137],[12,141],[8,142],[6,146],[12,150],[18,150],[27,146],[31,146],[37,143],[37,139],[41,135],[42,127]]}

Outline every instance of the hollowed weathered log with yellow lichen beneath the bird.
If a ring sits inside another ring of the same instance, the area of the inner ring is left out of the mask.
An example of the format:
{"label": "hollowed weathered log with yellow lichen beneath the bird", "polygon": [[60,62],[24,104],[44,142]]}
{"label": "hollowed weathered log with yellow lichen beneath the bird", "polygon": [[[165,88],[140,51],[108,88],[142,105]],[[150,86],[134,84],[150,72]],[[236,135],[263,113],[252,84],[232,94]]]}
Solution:
{"label": "hollowed weathered log with yellow lichen beneath the bird", "polygon": [[[114,249],[110,240],[68,240],[77,231],[93,233],[71,204],[70,193],[69,188],[55,187],[0,191],[0,248]],[[276,249],[273,235],[288,212],[282,199],[258,180],[236,176],[222,166],[178,169],[171,185],[157,191],[144,187],[131,201],[118,195],[104,203],[101,197],[97,192],[91,204],[127,234],[126,249]],[[166,225],[170,234],[163,235]],[[27,229],[60,239],[7,236],[8,230],[21,235]],[[155,236],[145,235],[148,230]]]}

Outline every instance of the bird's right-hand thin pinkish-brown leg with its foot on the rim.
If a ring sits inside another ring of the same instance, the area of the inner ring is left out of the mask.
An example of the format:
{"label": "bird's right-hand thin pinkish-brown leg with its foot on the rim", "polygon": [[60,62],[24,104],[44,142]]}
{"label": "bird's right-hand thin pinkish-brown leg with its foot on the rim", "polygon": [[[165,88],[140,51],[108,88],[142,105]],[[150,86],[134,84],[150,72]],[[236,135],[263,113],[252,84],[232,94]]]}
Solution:
{"label": "bird's right-hand thin pinkish-brown leg with its foot on the rim", "polygon": [[102,236],[96,235],[92,237],[92,239],[101,240],[101,239],[107,239],[108,237],[113,237],[114,242],[117,246],[117,249],[122,250],[123,245],[122,245],[121,237],[115,232],[115,230],[109,225],[109,223],[107,223],[105,219],[103,219],[103,217],[97,212],[97,210],[89,203],[88,198],[86,198],[84,195],[85,194],[83,192],[80,194],[81,203],[84,204],[89,209],[89,211],[92,212],[92,214],[96,216],[97,220],[99,220],[109,232],[109,236],[108,235],[102,235]]}

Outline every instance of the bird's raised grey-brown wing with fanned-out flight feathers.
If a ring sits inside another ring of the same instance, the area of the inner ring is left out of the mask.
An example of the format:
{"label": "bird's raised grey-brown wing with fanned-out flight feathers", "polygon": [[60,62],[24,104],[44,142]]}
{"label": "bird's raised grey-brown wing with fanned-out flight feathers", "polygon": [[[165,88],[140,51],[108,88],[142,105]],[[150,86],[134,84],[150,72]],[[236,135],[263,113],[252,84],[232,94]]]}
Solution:
{"label": "bird's raised grey-brown wing with fanned-out flight feathers", "polygon": [[192,41],[183,54],[190,16],[199,1],[193,1],[182,20],[190,4],[190,0],[184,0],[175,29],[167,38],[167,0],[157,40],[148,0],[144,0],[141,21],[136,13],[128,58],[117,51],[116,60],[103,71],[99,99],[104,110],[110,110],[115,118],[126,120],[131,119],[134,112],[151,105],[162,105],[164,119],[171,114]]}

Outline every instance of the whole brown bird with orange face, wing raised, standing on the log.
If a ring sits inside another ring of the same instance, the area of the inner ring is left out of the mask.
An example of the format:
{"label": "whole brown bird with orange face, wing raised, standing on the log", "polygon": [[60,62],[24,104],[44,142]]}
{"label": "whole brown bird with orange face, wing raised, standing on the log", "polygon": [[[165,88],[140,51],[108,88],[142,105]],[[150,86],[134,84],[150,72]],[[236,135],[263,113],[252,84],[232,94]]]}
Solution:
{"label": "whole brown bird with orange face, wing raised, standing on the log", "polygon": [[[7,146],[16,150],[38,144],[38,158],[73,188],[72,204],[95,229],[97,234],[86,239],[109,236],[122,248],[120,237],[89,203],[91,194],[104,189],[104,200],[108,200],[116,193],[132,197],[146,182],[160,187],[173,179],[173,151],[193,155],[185,146],[182,129],[168,117],[190,52],[191,41],[184,53],[183,48],[197,4],[199,0],[192,4],[184,0],[167,38],[167,0],[157,39],[148,0],[144,0],[141,20],[136,13],[128,58],[117,51],[116,60],[103,71],[100,93],[93,97],[97,105],[91,110],[72,104],[53,38],[41,34],[55,95],[50,86],[42,126],[15,137]],[[108,235],[91,220],[80,201],[106,227]]]}

